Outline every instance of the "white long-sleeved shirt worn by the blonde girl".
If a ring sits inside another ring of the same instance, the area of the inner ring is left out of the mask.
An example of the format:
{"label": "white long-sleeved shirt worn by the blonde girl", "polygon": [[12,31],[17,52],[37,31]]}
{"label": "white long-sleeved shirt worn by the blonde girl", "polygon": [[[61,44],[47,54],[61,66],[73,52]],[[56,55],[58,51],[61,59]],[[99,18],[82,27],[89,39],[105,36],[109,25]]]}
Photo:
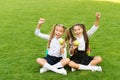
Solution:
{"label": "white long-sleeved shirt worn by the blonde girl", "polygon": [[[47,39],[47,40],[49,40],[49,38],[50,38],[49,35],[41,33],[40,29],[36,29],[35,30],[35,35],[37,35],[40,38]],[[48,49],[48,54],[50,56],[66,58],[66,56],[67,56],[67,54],[66,54],[66,47],[64,48],[64,54],[61,54],[60,53],[59,39],[57,39],[56,37],[54,37],[51,40],[50,48]]]}

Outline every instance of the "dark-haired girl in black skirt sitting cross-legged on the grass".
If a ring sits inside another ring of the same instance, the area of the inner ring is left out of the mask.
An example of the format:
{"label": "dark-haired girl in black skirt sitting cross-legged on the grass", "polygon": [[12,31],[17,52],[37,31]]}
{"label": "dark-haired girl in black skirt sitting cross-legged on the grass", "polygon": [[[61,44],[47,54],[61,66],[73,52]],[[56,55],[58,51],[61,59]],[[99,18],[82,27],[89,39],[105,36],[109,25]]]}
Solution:
{"label": "dark-haired girl in black skirt sitting cross-legged on the grass", "polygon": [[[96,66],[102,61],[100,56],[89,56],[87,49],[89,48],[89,37],[98,29],[98,23],[101,14],[96,13],[96,21],[93,27],[86,32],[84,24],[75,24],[69,28],[69,46],[70,46],[70,62],[69,66],[72,71],[75,70],[91,70],[102,71],[101,66]],[[75,45],[75,41],[78,41]]]}

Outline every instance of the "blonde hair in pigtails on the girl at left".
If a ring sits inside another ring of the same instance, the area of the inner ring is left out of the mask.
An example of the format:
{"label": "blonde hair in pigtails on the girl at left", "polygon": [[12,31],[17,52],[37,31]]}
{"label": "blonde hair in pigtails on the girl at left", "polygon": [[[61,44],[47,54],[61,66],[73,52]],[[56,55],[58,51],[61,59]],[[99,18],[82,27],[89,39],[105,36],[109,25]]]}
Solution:
{"label": "blonde hair in pigtails on the girl at left", "polygon": [[66,27],[64,25],[62,25],[62,24],[55,24],[55,25],[53,25],[53,28],[52,28],[51,33],[50,33],[50,38],[48,40],[48,48],[50,48],[51,40],[54,37],[56,26],[62,27],[64,29],[64,32],[65,32]]}

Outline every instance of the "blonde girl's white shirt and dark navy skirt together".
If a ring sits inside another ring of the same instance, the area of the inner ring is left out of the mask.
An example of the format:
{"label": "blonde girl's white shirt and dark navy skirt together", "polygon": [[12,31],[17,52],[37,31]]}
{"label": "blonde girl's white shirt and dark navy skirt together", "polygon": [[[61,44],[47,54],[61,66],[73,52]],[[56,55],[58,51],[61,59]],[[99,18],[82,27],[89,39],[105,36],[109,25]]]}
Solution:
{"label": "blonde girl's white shirt and dark navy skirt together", "polygon": [[[50,35],[41,33],[40,29],[35,30],[35,35],[46,40],[49,40],[50,38]],[[66,58],[66,47],[64,48],[64,54],[60,53],[59,39],[56,37],[52,38],[50,48],[48,49],[48,55],[44,57],[44,59],[46,59],[47,62],[51,65],[54,65],[60,62],[61,59]]]}

